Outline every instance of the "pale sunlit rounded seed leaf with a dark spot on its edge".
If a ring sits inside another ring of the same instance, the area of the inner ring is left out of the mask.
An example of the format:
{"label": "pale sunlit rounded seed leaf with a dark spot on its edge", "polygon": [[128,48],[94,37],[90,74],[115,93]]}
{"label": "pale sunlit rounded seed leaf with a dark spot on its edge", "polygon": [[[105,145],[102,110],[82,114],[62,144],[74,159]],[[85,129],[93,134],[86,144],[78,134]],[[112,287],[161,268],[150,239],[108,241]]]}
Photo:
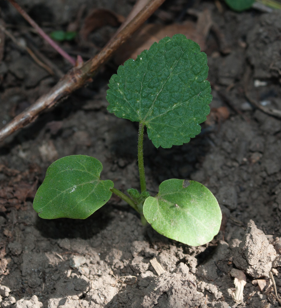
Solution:
{"label": "pale sunlit rounded seed leaf with a dark spot on its edge", "polygon": [[190,246],[212,241],[219,232],[221,210],[204,185],[187,180],[162,182],[156,197],[148,197],[144,217],[158,233]]}

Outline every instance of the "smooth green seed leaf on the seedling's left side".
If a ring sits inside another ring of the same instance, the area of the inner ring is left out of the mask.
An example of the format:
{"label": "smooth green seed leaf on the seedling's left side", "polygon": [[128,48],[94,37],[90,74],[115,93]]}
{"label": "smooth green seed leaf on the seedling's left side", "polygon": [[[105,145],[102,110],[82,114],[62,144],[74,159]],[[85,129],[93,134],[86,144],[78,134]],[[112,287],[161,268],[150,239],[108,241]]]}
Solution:
{"label": "smooth green seed leaf on the seedling's left side", "polygon": [[101,180],[102,164],[86,155],[62,157],[49,166],[33,208],[41,218],[85,219],[111,197],[111,180]]}

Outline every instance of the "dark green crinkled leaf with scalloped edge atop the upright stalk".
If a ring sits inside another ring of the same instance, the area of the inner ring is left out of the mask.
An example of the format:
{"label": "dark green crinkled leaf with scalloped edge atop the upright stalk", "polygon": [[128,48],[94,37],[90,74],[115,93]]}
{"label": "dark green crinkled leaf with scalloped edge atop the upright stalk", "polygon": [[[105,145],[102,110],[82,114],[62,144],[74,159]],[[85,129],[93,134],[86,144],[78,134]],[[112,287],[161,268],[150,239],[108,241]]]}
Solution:
{"label": "dark green crinkled leaf with scalloped edge atop the upright stalk", "polygon": [[156,148],[187,143],[210,112],[207,75],[198,44],[182,34],[165,37],[118,68],[109,80],[107,109],[146,125]]}

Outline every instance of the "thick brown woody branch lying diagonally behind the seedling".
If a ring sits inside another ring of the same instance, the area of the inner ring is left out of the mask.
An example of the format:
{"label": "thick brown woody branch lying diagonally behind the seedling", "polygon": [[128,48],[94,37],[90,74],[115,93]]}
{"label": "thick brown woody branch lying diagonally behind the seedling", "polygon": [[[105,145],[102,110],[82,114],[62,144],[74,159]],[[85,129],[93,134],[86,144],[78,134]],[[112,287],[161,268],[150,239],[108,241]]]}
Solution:
{"label": "thick brown woody branch lying diagonally behind the seedling", "polygon": [[13,132],[33,122],[42,111],[54,106],[73,91],[91,81],[97,69],[113,55],[129,37],[150,17],[165,0],[150,0],[136,17],[129,22],[109,43],[82,67],[71,69],[50,91],[41,96],[32,106],[17,115],[10,123],[0,130],[0,142]]}

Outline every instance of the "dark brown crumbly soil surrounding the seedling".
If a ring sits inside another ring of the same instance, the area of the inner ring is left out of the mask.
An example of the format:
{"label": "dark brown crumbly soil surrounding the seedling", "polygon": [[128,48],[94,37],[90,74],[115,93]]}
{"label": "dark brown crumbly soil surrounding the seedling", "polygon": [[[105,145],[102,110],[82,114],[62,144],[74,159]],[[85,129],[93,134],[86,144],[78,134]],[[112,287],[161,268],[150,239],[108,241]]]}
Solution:
{"label": "dark brown crumbly soil surrounding the seedling", "polygon": [[[82,21],[85,11],[94,7],[124,16],[132,8],[129,0],[19,3],[47,32],[66,29],[84,5]],[[42,220],[33,210],[34,193],[47,167],[66,155],[94,156],[103,164],[102,179],[113,180],[122,191],[138,188],[137,126],[106,110],[107,83],[116,71],[110,62],[87,88],[10,136],[0,148],[2,307],[236,307],[233,268],[246,274],[241,307],[279,306],[269,271],[279,291],[281,121],[249,103],[245,90],[261,106],[281,110],[281,12],[236,13],[225,6],[220,12],[213,1],[195,8],[210,10],[229,50],[220,52],[218,34],[211,30],[206,53],[215,109],[202,124],[202,133],[184,146],[157,150],[146,138],[145,171],[152,194],[168,178],[206,185],[222,209],[220,233],[199,247],[169,240],[143,227],[117,197],[83,221]],[[30,31],[8,2],[2,1],[0,9],[7,30],[67,72],[69,64]],[[194,20],[181,14],[185,9],[185,1],[168,1],[151,22],[171,23],[177,16]],[[61,45],[73,56],[88,59],[116,29],[105,26],[87,42]],[[1,126],[58,80],[7,36],[3,48]],[[229,117],[221,116],[222,106]],[[153,258],[164,273],[157,274]]]}

